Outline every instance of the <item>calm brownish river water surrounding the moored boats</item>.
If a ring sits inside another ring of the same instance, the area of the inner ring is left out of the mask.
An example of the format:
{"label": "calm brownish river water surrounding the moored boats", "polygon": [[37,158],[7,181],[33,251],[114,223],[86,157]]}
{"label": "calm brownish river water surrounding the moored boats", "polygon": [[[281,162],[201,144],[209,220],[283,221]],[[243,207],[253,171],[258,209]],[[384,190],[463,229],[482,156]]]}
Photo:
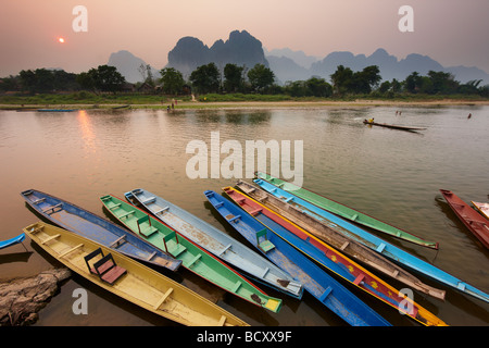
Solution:
{"label": "calm brownish river water surrounding the moored boats", "polygon": [[[402,114],[397,113],[398,110],[402,110]],[[467,119],[469,113],[472,117]],[[376,122],[426,129],[408,133],[362,123],[372,116]],[[39,220],[20,196],[28,188],[60,197],[109,219],[102,210],[100,196],[123,197],[125,191],[142,187],[244,243],[213,212],[203,191],[221,192],[222,187],[236,183],[234,177],[226,178],[228,171],[224,164],[228,154],[223,153],[224,144],[242,147],[242,163],[235,162],[233,169],[239,176],[241,165],[241,176],[251,182],[246,169],[250,170],[254,163],[247,161],[246,144],[263,140],[278,144],[281,153],[286,145],[290,145],[290,161],[285,157],[279,163],[293,169],[296,179],[303,174],[303,187],[425,239],[439,241],[440,249],[436,251],[385,237],[489,293],[489,252],[456,220],[439,192],[440,188],[451,189],[466,202],[489,201],[488,134],[489,107],[478,105],[178,110],[171,113],[166,110],[0,111],[0,240],[16,236],[23,227]],[[208,151],[208,175],[201,175],[204,177],[191,178],[195,173],[189,162],[193,163],[197,152],[187,153],[189,144],[204,146]],[[239,152],[237,149],[234,148],[234,153]],[[220,164],[224,165],[222,171]],[[266,165],[271,169],[269,157]],[[24,246],[28,252],[21,245],[0,250],[0,278],[29,276],[60,265],[28,238]],[[446,323],[489,324],[489,303],[419,277],[447,290],[446,301],[414,295],[415,301]],[[272,313],[223,294],[185,270],[174,278],[213,298],[251,325],[346,325],[309,294],[299,301],[261,285],[268,295],[284,299],[281,311]],[[398,289],[402,287],[389,283]],[[76,315],[72,310],[73,291],[77,288],[88,291],[86,315]],[[396,309],[349,288],[393,325],[417,325]],[[173,325],[76,275],[61,287],[61,293],[39,316],[35,324],[38,326]]]}

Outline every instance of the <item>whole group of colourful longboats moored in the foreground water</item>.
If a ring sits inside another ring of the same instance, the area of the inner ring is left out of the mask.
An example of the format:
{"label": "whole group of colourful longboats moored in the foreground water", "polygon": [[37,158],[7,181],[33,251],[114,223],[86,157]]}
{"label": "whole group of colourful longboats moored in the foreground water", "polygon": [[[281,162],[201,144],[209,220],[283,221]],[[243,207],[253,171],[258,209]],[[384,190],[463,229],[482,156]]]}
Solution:
{"label": "whole group of colourful longboats moored in the foreground water", "polygon": [[[488,216],[453,192],[441,192],[488,247]],[[184,325],[249,324],[165,275],[180,268],[275,313],[281,309],[284,299],[267,295],[261,288],[263,285],[296,299],[308,291],[353,326],[390,326],[390,323],[342,282],[427,326],[447,323],[384,277],[444,300],[446,291],[424,283],[411,273],[415,271],[489,301],[486,293],[366,228],[421,247],[438,249],[437,243],[265,173],[258,172],[253,184],[239,181],[236,187],[223,188],[222,194],[204,192],[213,209],[247,239],[247,245],[142,188],[125,192],[124,199],[112,195],[100,197],[105,213],[116,219],[117,224],[35,189],[25,190],[22,196],[49,223],[39,221],[25,227],[20,236],[0,243],[0,248],[22,241],[27,234],[73,272]],[[484,213],[484,204],[476,207]]]}

